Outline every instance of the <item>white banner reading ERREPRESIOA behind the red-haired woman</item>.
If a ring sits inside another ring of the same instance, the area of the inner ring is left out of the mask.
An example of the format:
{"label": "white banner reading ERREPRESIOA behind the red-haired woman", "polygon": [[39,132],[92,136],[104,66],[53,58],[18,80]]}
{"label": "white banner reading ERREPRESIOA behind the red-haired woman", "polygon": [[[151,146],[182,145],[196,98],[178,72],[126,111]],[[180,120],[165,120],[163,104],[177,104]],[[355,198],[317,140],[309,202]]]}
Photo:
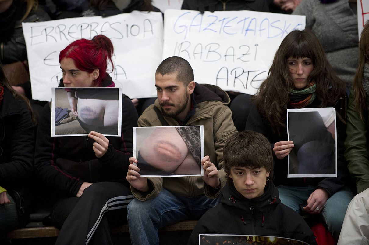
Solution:
{"label": "white banner reading ERREPRESIOA behind the red-haired woman", "polygon": [[[72,41],[103,34],[114,45],[116,87],[131,98],[156,97],[156,67],[161,62],[162,13],[133,11],[102,18],[80,17],[22,23],[30,67],[32,97],[51,100],[51,88],[58,87],[62,73],[59,53]],[[107,72],[111,71],[108,67]]]}

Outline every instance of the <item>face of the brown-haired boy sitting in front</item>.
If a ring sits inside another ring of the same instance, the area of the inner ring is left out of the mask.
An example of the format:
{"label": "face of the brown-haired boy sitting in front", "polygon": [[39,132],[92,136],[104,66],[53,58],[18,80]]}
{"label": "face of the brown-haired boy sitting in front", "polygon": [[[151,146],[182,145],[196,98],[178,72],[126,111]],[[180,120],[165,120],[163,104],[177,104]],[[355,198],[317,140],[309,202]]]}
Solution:
{"label": "face of the brown-haired boy sitting in front", "polygon": [[264,167],[231,167],[229,174],[236,190],[248,199],[260,197],[264,193],[268,176],[269,172]]}

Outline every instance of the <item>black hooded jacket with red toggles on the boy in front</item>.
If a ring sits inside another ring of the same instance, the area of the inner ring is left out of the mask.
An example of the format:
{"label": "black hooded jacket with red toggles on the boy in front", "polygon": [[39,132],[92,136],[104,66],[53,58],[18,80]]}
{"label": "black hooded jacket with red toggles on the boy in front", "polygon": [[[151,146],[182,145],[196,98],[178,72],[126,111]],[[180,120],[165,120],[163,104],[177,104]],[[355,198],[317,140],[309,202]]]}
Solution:
{"label": "black hooded jacket with red toggles on the boy in front", "polygon": [[303,218],[280,202],[273,182],[266,183],[264,194],[253,199],[243,197],[233,184],[226,184],[220,204],[200,218],[187,244],[199,244],[199,234],[278,236],[317,244]]}

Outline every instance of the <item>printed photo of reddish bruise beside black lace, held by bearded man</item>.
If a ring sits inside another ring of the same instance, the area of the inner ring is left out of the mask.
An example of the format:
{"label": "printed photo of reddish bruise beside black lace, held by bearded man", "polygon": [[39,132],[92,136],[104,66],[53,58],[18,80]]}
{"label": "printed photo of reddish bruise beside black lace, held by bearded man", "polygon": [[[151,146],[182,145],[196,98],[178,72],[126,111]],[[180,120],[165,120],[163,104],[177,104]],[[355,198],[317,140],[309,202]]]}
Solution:
{"label": "printed photo of reddish bruise beside black lace, held by bearded man", "polygon": [[201,127],[134,128],[141,176],[201,175],[201,159],[204,157]]}

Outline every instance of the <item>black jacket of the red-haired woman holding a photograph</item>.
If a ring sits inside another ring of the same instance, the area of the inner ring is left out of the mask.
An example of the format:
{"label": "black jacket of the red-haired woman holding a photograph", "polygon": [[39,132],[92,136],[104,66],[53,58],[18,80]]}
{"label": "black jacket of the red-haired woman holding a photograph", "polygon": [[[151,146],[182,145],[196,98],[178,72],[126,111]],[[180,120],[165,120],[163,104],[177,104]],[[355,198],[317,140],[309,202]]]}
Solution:
{"label": "black jacket of the red-haired woman holding a photograph", "polygon": [[[111,86],[109,75],[101,87]],[[107,137],[107,152],[97,158],[93,140],[87,136],[51,137],[51,112],[46,104],[40,115],[35,149],[37,177],[57,192],[75,197],[83,182],[126,182],[129,161],[133,156],[132,127],[138,114],[130,98],[123,94],[122,135]],[[128,185],[128,182],[125,184]]]}

